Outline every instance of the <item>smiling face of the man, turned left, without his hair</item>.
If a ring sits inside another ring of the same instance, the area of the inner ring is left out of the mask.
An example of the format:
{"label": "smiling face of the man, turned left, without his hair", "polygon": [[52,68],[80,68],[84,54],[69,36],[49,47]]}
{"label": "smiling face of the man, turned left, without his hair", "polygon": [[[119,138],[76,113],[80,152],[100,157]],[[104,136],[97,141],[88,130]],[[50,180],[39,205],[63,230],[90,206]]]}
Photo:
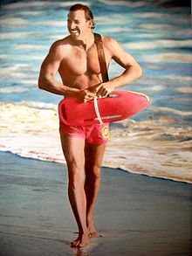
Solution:
{"label": "smiling face of the man, turned left, without his hair", "polygon": [[91,24],[86,20],[84,10],[75,10],[69,12],[67,27],[72,38],[80,40],[86,37],[86,32],[90,30]]}

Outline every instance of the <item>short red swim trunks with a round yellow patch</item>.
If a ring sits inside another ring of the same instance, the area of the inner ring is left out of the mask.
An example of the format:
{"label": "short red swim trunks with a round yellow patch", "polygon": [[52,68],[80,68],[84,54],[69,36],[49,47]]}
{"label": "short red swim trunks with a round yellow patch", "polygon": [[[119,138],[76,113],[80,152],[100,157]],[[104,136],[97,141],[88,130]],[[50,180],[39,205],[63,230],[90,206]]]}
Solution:
{"label": "short red swim trunks with a round yellow patch", "polygon": [[87,126],[68,126],[60,123],[59,130],[65,135],[81,137],[95,145],[105,144],[109,137],[109,124],[93,124]]}

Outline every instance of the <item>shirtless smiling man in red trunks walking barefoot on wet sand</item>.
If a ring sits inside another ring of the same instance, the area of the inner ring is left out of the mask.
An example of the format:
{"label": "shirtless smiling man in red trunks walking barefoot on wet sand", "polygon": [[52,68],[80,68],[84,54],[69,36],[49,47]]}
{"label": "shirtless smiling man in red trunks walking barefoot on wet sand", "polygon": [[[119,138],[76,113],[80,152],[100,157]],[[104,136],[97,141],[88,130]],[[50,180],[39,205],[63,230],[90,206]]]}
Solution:
{"label": "shirtless smiling man in red trunks walking barefoot on wet sand", "polygon": [[[93,13],[85,5],[71,7],[67,27],[69,36],[51,45],[39,75],[40,89],[76,97],[84,102],[95,96],[106,97],[116,87],[141,77],[141,66],[113,38],[103,37],[106,66],[114,59],[125,71],[102,82],[93,36]],[[59,73],[62,84],[54,79]],[[78,239],[71,246],[82,247],[99,237],[93,222],[93,209],[99,192],[100,167],[106,147],[108,125],[68,127],[60,125],[60,138],[68,168],[68,196],[79,227]],[[105,133],[103,134],[103,129]]]}

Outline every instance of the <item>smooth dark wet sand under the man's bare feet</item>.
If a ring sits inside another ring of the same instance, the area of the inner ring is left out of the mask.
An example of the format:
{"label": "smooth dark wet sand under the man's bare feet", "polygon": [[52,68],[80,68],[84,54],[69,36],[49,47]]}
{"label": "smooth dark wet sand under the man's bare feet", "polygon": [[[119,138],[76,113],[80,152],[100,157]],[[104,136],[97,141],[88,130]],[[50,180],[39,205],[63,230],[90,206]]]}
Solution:
{"label": "smooth dark wet sand under the man's bare feet", "polygon": [[95,222],[104,237],[69,244],[77,226],[65,164],[0,153],[0,255],[190,255],[192,185],[102,169]]}

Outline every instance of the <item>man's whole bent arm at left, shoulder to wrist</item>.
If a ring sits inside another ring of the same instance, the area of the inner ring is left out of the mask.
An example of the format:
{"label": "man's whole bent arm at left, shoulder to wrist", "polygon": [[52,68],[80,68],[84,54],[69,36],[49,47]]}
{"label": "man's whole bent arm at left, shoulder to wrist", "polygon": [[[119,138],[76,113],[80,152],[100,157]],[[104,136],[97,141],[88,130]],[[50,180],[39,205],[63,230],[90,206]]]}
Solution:
{"label": "man's whole bent arm at left, shoulder to wrist", "polygon": [[57,43],[54,43],[51,45],[50,52],[42,63],[38,78],[38,87],[58,95],[76,96],[77,93],[79,93],[79,89],[64,86],[54,79],[55,74],[58,73],[58,68],[62,59],[63,55],[60,51],[60,47],[59,45],[57,46]]}

